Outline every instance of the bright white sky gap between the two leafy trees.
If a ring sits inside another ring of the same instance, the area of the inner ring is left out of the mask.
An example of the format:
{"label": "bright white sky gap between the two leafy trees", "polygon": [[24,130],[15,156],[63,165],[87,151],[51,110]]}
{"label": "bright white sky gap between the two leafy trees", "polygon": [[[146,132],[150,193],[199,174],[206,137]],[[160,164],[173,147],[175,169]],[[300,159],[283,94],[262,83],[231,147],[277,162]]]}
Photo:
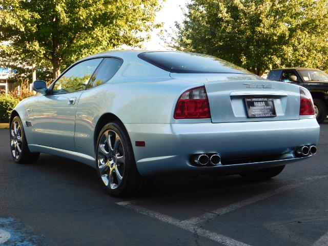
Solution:
{"label": "bright white sky gap between the two leafy trees", "polygon": [[[186,9],[186,5],[190,3],[190,0],[166,0],[163,3],[162,8],[156,14],[155,24],[163,23],[163,30],[171,30],[175,28],[174,22],[182,22],[183,15],[181,7]],[[158,36],[159,30],[156,29],[151,33],[151,39],[144,43],[144,49],[147,50],[165,50],[167,46],[165,42],[160,40]],[[165,33],[165,32],[163,32]]]}

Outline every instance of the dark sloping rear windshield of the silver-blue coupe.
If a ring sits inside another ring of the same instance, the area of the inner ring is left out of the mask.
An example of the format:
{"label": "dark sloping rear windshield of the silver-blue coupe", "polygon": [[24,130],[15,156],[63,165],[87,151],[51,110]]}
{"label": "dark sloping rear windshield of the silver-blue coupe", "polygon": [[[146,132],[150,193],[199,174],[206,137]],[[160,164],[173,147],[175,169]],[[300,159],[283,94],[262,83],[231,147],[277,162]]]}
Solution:
{"label": "dark sloping rear windshield of the silver-blue coupe", "polygon": [[210,55],[175,51],[156,51],[140,53],[138,57],[156,67],[172,73],[250,74],[249,71],[243,68]]}

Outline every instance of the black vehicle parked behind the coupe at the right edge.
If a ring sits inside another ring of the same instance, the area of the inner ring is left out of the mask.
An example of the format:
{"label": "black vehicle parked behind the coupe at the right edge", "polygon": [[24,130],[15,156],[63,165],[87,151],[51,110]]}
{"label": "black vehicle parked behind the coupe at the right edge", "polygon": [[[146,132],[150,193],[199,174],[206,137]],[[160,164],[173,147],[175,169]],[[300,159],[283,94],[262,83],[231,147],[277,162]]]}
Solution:
{"label": "black vehicle parked behind the coupe at the right edge", "polygon": [[314,109],[319,123],[328,113],[328,74],[311,68],[282,68],[271,70],[267,79],[293,83],[308,89],[313,97]]}

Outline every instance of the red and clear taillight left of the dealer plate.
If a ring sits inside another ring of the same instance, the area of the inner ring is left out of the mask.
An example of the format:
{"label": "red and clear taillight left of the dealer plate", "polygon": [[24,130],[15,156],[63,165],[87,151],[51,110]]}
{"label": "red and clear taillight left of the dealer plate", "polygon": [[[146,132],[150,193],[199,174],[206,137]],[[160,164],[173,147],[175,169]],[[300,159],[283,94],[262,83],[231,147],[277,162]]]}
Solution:
{"label": "red and clear taillight left of the dealer plate", "polygon": [[184,92],[176,103],[174,118],[211,118],[210,106],[205,87],[201,86]]}

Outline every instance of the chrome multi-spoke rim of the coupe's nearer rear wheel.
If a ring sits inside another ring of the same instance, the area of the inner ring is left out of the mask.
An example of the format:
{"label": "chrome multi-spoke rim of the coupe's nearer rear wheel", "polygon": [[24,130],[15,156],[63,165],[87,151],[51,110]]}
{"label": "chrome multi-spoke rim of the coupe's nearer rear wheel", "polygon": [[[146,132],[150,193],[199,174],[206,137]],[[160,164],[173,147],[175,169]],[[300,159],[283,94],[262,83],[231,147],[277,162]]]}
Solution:
{"label": "chrome multi-spoke rim of the coupe's nearer rear wheel", "polygon": [[98,143],[98,170],[105,186],[116,189],[122,182],[125,171],[125,152],[119,135],[107,130]]}

